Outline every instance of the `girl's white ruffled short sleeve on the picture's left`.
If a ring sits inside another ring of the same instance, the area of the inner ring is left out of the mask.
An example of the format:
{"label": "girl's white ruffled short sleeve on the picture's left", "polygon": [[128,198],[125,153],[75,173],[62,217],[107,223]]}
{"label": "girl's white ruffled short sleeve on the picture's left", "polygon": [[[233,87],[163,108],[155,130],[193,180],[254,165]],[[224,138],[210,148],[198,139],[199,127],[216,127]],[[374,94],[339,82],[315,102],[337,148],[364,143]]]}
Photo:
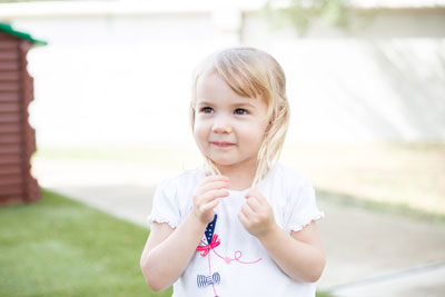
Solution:
{"label": "girl's white ruffled short sleeve on the picture's left", "polygon": [[180,222],[180,210],[176,195],[176,187],[171,180],[161,182],[155,191],[151,215],[148,216],[149,227],[156,222],[168,222],[171,228],[178,227]]}

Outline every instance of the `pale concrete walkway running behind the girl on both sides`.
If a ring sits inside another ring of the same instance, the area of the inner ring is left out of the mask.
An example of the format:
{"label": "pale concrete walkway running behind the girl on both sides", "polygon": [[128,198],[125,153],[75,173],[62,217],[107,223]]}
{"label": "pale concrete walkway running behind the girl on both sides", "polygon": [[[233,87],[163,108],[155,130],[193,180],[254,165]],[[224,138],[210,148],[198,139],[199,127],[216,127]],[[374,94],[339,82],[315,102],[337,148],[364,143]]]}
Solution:
{"label": "pale concrete walkway running behind the girl on both sides", "polygon": [[[33,159],[39,184],[145,226],[156,185],[175,171],[97,160]],[[328,260],[319,290],[338,297],[445,296],[445,225],[330,202],[318,197]]]}

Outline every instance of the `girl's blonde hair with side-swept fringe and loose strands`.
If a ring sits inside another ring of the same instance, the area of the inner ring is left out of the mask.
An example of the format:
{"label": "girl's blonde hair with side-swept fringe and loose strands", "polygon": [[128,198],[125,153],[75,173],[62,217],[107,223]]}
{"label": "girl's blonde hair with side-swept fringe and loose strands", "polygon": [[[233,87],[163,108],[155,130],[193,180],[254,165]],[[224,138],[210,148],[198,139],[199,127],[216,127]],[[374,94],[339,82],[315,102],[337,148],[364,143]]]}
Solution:
{"label": "girl's blonde hair with side-swept fringe and loose strands", "polygon": [[[228,48],[212,53],[202,61],[192,76],[190,102],[192,131],[198,79],[212,72],[220,75],[237,95],[263,98],[267,103],[269,125],[258,150],[257,169],[251,185],[255,188],[278,161],[289,125],[290,110],[286,96],[285,73],[269,53],[255,48]],[[206,174],[220,175],[215,162],[204,157]]]}

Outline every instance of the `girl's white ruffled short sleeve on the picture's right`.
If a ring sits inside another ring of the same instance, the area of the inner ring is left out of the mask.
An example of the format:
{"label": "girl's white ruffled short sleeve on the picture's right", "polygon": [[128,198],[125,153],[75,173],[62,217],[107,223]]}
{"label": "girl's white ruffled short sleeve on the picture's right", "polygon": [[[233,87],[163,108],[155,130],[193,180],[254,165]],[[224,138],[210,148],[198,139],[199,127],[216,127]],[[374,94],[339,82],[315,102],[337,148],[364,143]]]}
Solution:
{"label": "girl's white ruffled short sleeve on the picture's right", "polygon": [[318,209],[315,190],[307,178],[301,179],[290,192],[290,207],[285,215],[286,231],[299,231],[313,220],[325,217]]}

